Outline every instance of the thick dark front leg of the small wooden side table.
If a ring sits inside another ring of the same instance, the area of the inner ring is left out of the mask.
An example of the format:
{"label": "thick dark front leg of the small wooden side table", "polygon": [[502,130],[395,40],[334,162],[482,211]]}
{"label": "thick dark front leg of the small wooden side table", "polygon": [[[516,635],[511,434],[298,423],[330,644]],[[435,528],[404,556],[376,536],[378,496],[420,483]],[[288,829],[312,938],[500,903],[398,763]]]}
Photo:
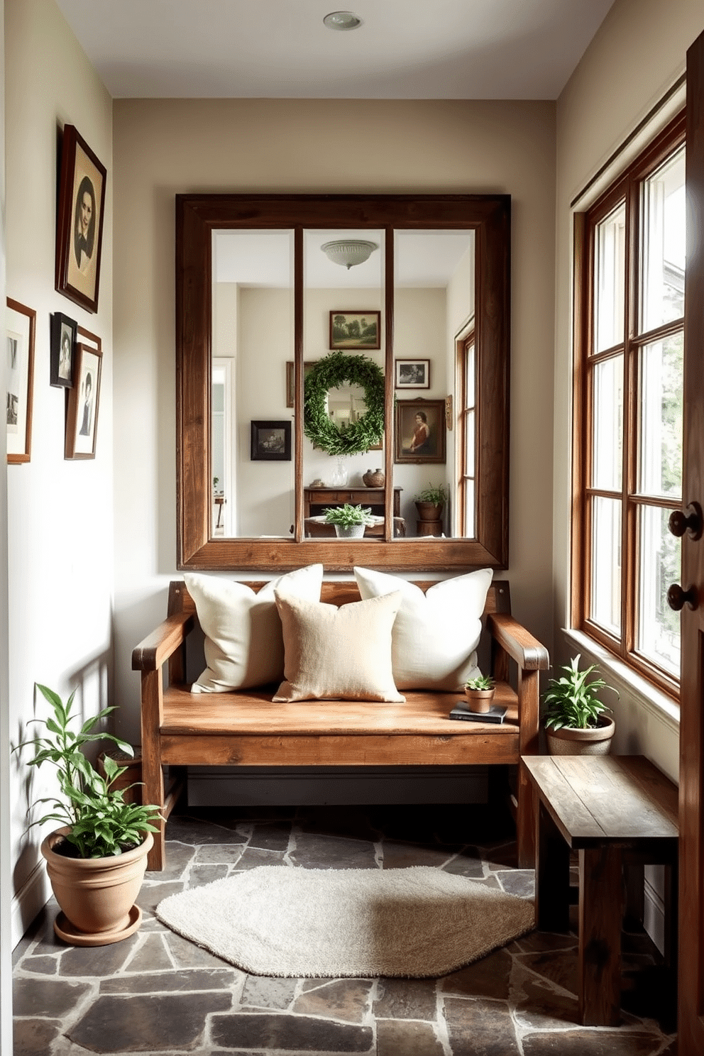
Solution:
{"label": "thick dark front leg of the small wooden side table", "polygon": [[577,998],[585,1026],[621,1022],[621,849],[579,851]]}

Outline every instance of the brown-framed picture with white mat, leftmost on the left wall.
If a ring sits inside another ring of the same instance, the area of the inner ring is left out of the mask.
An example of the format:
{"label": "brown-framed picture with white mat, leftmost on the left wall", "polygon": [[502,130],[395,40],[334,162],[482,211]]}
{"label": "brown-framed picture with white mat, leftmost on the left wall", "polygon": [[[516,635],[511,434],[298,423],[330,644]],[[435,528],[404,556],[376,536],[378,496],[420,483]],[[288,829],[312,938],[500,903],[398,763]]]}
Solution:
{"label": "brown-framed picture with white mat, leftmost on the left wall", "polygon": [[30,461],[32,454],[32,394],[34,337],[37,313],[7,298],[7,461]]}

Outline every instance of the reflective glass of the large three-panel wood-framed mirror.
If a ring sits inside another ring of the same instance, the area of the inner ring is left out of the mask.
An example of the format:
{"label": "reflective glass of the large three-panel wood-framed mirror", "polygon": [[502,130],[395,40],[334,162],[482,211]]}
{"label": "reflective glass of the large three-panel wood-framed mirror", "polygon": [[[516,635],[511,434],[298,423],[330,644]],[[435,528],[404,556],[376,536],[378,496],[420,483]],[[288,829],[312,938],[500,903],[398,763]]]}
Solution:
{"label": "reflective glass of the large three-panel wood-framed mirror", "polygon": [[[366,245],[360,249],[360,243]],[[383,229],[303,232],[306,371],[330,353],[365,357],[385,371],[384,245]],[[355,253],[364,259],[350,259]],[[290,538],[294,459],[273,460],[266,451],[256,452],[250,432],[252,421],[293,427],[293,285],[292,230],[214,232],[213,535]],[[304,436],[304,516],[306,509],[310,517],[313,508],[343,501],[383,514],[384,488],[374,471],[384,467],[388,437],[395,446],[393,479],[385,482],[393,494],[394,538],[473,536],[474,288],[472,230],[395,231],[394,377],[388,379],[396,401],[394,429],[386,423],[381,442],[342,456]],[[449,416],[446,397],[452,397]],[[330,386],[325,406],[329,420],[344,431],[367,410],[364,389],[349,380]],[[408,422],[425,430],[422,444],[414,442],[416,431],[408,431]],[[365,476],[376,486],[367,486]],[[330,490],[345,488],[335,496]],[[446,496],[441,513],[431,522],[421,518],[419,494],[439,488]],[[383,534],[383,524],[366,534]]]}

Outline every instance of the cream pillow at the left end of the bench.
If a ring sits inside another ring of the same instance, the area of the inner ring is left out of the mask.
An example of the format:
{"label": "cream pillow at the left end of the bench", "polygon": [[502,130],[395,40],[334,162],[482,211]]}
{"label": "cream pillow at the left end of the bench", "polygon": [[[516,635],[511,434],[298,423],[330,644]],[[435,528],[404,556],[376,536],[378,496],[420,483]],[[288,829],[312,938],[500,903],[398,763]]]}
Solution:
{"label": "cream pillow at the left end of the bench", "polygon": [[278,682],[284,676],[284,640],[274,591],[318,601],[323,566],[307,565],[280,576],[254,593],[246,583],[186,572],[206,636],[207,667],[191,693],[227,693]]}

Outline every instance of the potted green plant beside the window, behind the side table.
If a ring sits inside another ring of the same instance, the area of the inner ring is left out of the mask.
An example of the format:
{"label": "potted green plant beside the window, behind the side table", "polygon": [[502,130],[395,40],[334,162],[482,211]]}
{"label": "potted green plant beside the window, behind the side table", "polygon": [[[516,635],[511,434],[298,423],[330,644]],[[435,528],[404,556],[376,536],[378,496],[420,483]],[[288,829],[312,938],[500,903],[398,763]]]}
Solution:
{"label": "potted green plant beside the window, behind the side table", "polygon": [[544,696],[545,728],[551,755],[607,755],[615,732],[613,719],[600,699],[602,690],[616,691],[603,678],[589,676],[594,664],[579,671],[579,655],[562,667],[564,674],[552,678]]}

